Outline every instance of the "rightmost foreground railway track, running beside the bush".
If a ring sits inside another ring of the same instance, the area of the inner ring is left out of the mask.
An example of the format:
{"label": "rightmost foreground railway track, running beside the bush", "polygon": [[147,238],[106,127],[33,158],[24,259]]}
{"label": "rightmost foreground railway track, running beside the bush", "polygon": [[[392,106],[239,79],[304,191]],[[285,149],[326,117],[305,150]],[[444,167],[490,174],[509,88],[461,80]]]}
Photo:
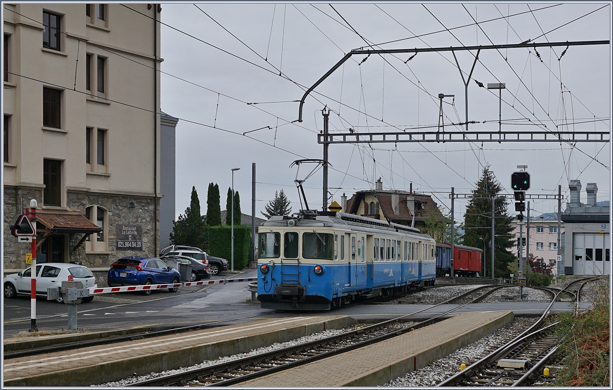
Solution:
{"label": "rightmost foreground railway track, running beside the bush", "polygon": [[[572,293],[578,302],[585,281],[593,279],[582,278],[569,283],[563,289],[546,289],[545,291],[551,291],[554,297],[535,324],[489,355],[437,384],[436,387],[525,386],[528,381],[533,381],[534,377],[539,377],[539,375],[543,377],[542,369],[560,343],[560,340],[552,334],[557,323],[543,326],[544,319],[549,315],[561,294]],[[552,381],[554,378],[542,380]]]}

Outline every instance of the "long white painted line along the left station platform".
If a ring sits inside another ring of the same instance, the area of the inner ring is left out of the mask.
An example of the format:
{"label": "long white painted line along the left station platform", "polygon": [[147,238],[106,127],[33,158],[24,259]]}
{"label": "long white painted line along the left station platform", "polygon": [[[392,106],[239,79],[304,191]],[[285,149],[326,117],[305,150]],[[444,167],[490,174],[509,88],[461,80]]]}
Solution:
{"label": "long white painted line along the left station platform", "polygon": [[[297,317],[297,318],[283,318],[278,321],[270,321],[269,323],[261,324],[259,326],[254,326],[253,324],[245,324],[243,326],[237,326],[234,329],[222,329],[220,331],[211,331],[205,334],[194,336],[194,335],[183,335],[176,337],[166,337],[164,340],[164,345],[170,346],[172,344],[183,343],[185,340],[190,340],[194,342],[198,342],[199,340],[205,340],[206,338],[215,337],[218,335],[229,335],[233,333],[242,332],[245,330],[254,330],[254,329],[262,329],[265,327],[271,327],[278,324],[289,324],[297,321],[303,321],[305,319],[311,319],[314,317]],[[121,351],[139,351],[139,350],[149,350],[151,345],[158,345],[159,340],[150,340],[140,343],[132,344],[131,348],[121,348]],[[52,358],[43,358],[37,361],[23,361],[23,362],[15,362],[4,364],[4,373],[6,375],[7,372],[16,371],[16,370],[28,370],[34,368],[42,368],[45,365],[61,365],[62,362],[69,361],[82,361],[83,359],[88,359],[88,361],[94,361],[96,358],[102,358],[102,356],[116,355],[118,353],[117,346],[102,348],[97,351],[85,351],[85,352],[76,352],[72,354],[64,354],[62,356],[53,356]],[[32,359],[32,358],[29,358]]]}

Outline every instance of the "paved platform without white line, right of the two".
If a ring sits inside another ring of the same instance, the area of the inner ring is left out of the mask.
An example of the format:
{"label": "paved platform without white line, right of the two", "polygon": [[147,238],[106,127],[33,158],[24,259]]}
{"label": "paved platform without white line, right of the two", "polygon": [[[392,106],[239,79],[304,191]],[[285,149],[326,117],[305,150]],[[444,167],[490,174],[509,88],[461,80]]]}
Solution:
{"label": "paved platform without white line, right of the two", "polygon": [[512,312],[462,313],[383,342],[235,386],[380,386],[491,334],[513,318]]}

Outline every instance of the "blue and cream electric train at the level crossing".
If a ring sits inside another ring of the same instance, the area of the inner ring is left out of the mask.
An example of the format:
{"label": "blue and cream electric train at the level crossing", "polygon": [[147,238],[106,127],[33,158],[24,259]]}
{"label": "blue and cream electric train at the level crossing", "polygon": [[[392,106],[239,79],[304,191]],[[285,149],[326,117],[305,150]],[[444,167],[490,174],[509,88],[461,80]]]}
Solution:
{"label": "blue and cream electric train at the level crossing", "polygon": [[262,308],[329,310],[433,285],[436,242],[418,229],[333,212],[272,216],[259,226]]}

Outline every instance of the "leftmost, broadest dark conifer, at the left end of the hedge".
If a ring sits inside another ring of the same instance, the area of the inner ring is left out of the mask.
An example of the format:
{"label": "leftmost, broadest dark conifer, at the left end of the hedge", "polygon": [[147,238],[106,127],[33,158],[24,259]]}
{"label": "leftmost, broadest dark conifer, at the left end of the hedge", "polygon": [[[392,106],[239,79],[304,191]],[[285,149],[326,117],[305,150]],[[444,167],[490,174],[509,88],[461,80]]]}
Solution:
{"label": "leftmost, broadest dark conifer, at the left end of the hedge", "polygon": [[190,247],[205,248],[205,223],[200,215],[200,201],[196,187],[192,187],[191,201],[185,209],[185,214],[179,215],[177,221],[173,221],[170,242],[175,245],[189,245]]}

